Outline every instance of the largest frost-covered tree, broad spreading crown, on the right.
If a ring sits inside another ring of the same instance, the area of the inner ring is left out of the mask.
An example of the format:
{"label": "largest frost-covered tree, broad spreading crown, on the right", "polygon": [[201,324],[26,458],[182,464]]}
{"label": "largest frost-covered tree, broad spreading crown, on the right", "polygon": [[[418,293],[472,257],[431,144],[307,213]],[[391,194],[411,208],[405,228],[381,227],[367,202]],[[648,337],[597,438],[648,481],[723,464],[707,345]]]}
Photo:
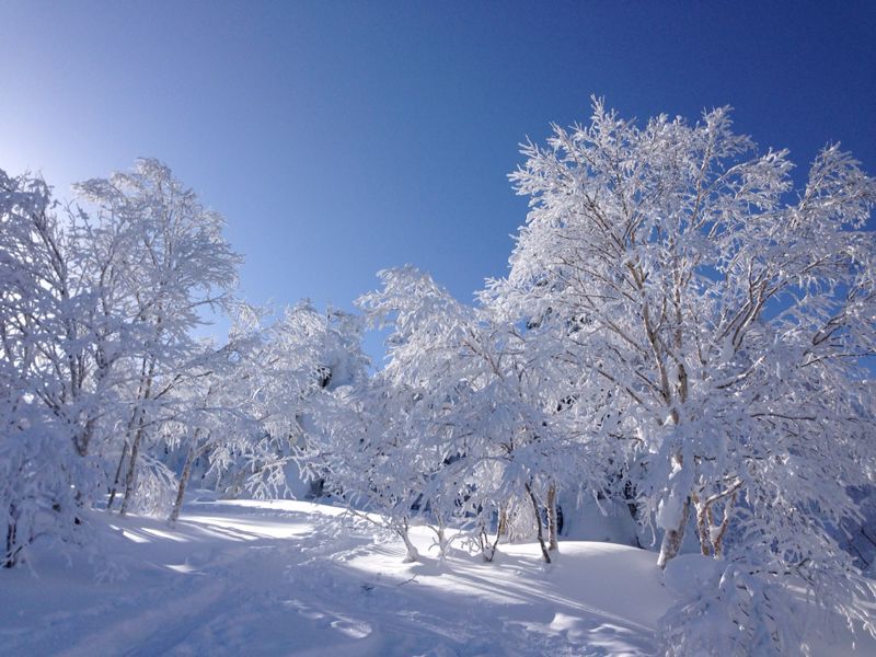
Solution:
{"label": "largest frost-covered tree, broad spreading crown, on the right", "polygon": [[793,573],[858,619],[871,586],[833,537],[876,457],[873,178],[831,146],[795,191],[787,153],[727,108],[639,127],[596,101],[522,152],[531,210],[488,298],[566,327],[575,395],[608,418],[592,429],[642,464],[658,563],[690,519],[704,555]]}

